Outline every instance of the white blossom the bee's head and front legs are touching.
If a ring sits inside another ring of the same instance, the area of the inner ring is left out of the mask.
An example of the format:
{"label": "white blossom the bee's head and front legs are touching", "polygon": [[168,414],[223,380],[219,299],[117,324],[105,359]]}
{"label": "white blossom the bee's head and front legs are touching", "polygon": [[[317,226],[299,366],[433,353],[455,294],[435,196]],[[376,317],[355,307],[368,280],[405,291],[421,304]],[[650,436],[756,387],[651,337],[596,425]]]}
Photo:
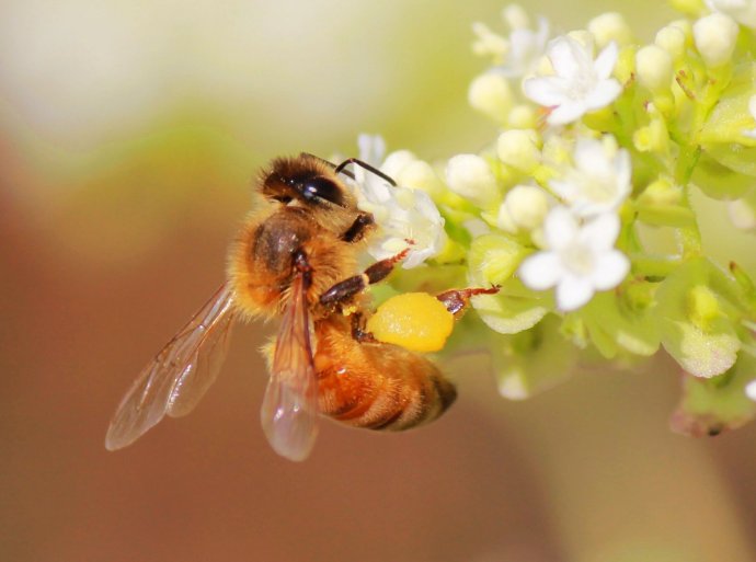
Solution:
{"label": "white blossom the bee's head and front legs are touching", "polygon": [[[376,168],[380,167],[386,144],[379,136],[360,135],[359,159]],[[404,159],[391,156],[387,162]],[[421,190],[392,186],[386,180],[362,167],[354,167],[358,207],[373,214],[378,231],[370,237],[368,252],[376,260],[385,260],[410,249],[402,262],[405,269],[416,267],[425,260],[440,253],[446,244],[444,218],[431,196]],[[408,241],[411,240],[412,243]]]}

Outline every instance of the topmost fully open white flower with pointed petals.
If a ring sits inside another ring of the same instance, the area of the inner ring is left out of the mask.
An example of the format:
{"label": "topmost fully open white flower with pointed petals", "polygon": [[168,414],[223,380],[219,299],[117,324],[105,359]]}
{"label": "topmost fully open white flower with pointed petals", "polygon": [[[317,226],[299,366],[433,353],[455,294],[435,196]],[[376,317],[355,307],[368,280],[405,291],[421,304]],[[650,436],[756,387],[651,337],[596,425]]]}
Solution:
{"label": "topmost fully open white flower with pointed petals", "polygon": [[570,36],[549,43],[547,57],[554,74],[536,76],[523,83],[523,90],[534,102],[551,107],[549,125],[565,125],[585,113],[600,110],[614,102],[622,91],[610,78],[617,64],[617,44],[610,43],[594,60],[593,47]]}

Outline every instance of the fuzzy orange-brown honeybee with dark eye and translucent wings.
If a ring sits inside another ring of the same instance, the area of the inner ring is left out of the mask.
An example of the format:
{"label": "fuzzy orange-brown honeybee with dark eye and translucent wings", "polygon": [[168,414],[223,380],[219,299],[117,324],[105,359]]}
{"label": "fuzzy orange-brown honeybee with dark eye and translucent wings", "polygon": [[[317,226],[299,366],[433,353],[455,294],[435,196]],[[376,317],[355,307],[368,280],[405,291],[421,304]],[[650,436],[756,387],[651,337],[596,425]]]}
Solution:
{"label": "fuzzy orange-brown honeybee with dark eye and translucent wings", "polygon": [[[110,450],[131,444],[167,414],[188,414],[215,381],[238,320],[280,318],[268,346],[270,380],[261,422],[272,447],[303,460],[318,414],[370,429],[431,422],[457,392],[425,356],[376,341],[364,330],[364,289],[406,254],[359,273],[357,257],[376,225],[358,209],[339,167],[311,154],[279,158],[261,173],[253,209],[231,244],[227,282],[135,380],[111,422]],[[495,289],[438,296],[455,316],[469,298]]]}

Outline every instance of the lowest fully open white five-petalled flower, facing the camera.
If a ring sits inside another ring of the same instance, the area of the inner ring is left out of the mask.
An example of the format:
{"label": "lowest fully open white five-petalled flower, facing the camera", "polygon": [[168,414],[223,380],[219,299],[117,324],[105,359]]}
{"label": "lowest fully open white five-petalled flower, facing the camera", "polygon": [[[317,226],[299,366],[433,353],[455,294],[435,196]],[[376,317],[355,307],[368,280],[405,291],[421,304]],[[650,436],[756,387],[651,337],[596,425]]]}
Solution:
{"label": "lowest fully open white five-petalled flower, facing the camera", "polygon": [[615,241],[619,234],[617,215],[599,215],[585,225],[564,207],[554,207],[546,217],[547,250],[526,259],[519,278],[535,290],[557,287],[557,306],[575,310],[596,290],[619,285],[630,269],[630,261]]}

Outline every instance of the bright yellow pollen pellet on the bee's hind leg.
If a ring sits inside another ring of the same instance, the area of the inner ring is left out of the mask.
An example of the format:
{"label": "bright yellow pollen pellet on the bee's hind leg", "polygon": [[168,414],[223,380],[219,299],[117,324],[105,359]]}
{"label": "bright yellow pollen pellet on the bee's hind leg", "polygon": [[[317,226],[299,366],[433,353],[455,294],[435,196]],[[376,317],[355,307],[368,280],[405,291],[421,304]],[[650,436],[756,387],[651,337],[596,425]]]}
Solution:
{"label": "bright yellow pollen pellet on the bee's hind leg", "polygon": [[437,352],[454,328],[454,316],[427,293],[405,293],[383,302],[367,321],[380,342],[413,352]]}

